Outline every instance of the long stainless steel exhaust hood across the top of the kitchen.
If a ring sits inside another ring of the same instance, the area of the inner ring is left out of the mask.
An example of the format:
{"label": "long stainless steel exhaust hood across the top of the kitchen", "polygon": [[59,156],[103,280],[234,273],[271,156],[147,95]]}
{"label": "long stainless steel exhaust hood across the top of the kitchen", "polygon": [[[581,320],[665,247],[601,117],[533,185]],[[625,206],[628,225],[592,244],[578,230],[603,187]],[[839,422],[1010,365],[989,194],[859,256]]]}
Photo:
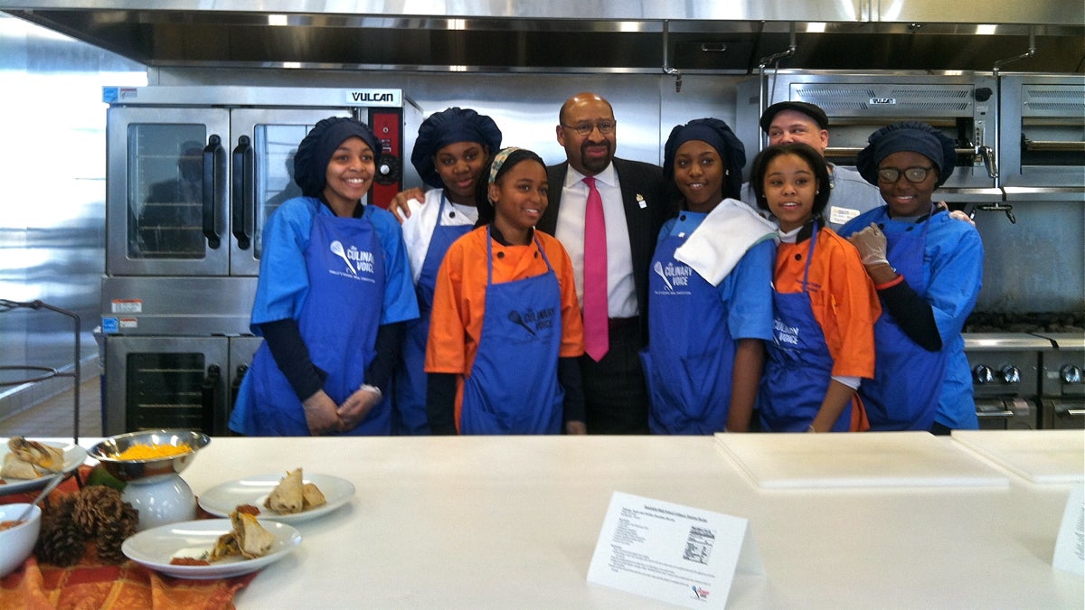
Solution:
{"label": "long stainless steel exhaust hood across the top of the kitchen", "polygon": [[1013,69],[1085,68],[1080,0],[0,0],[0,11],[150,66],[748,74],[794,40],[781,67],[990,71],[1034,41]]}

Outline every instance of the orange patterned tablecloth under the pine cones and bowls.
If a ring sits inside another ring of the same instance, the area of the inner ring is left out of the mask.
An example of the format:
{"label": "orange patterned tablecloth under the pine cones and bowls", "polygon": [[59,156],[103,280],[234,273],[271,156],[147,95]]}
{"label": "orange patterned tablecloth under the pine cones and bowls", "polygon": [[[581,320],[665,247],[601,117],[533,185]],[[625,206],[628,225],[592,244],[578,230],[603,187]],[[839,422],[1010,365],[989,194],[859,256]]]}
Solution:
{"label": "orange patterned tablecloth under the pine cones and bowls", "polygon": [[[85,479],[89,469],[80,468]],[[62,483],[50,497],[78,491],[75,478]],[[0,504],[27,503],[37,491],[0,496]],[[233,579],[194,581],[148,570],[135,561],[103,565],[91,544],[82,561],[69,568],[39,564],[31,555],[23,565],[0,579],[0,608],[108,610],[233,608],[233,596],[256,573]]]}

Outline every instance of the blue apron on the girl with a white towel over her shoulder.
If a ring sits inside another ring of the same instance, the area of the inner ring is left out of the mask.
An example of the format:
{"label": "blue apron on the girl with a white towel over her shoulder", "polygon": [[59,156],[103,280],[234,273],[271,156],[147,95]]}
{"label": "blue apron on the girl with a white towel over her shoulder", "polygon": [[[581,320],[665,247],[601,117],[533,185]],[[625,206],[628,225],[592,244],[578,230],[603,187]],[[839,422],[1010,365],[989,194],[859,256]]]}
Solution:
{"label": "blue apron on the girl with a white towel over her shoulder", "polygon": [[649,272],[649,341],[640,360],[655,434],[720,432],[731,402],[736,343],[719,289],[674,257],[688,234],[664,238]]}

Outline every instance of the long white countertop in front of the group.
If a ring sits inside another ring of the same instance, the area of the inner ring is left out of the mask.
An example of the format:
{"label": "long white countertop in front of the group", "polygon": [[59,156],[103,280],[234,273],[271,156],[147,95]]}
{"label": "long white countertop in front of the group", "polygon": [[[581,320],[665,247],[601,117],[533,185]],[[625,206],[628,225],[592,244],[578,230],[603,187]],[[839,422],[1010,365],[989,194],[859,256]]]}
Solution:
{"label": "long white countertop in front of the group", "polygon": [[215,437],[182,476],[199,495],[298,466],[357,494],[296,524],[302,545],[241,609],[658,608],[586,580],[614,491],[750,520],[766,573],[739,575],[730,608],[1083,606],[1082,579],[1050,563],[1070,485],[1011,472],[766,491],[712,436]]}

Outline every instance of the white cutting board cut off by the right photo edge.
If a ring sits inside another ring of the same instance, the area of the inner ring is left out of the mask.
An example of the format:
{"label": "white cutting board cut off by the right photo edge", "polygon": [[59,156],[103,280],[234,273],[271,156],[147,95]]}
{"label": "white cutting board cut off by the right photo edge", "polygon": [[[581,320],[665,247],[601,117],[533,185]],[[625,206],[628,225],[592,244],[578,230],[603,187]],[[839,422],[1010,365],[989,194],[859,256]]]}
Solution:
{"label": "white cutting board cut off by the right photo edge", "polygon": [[954,430],[953,439],[1033,483],[1085,482],[1085,430]]}

